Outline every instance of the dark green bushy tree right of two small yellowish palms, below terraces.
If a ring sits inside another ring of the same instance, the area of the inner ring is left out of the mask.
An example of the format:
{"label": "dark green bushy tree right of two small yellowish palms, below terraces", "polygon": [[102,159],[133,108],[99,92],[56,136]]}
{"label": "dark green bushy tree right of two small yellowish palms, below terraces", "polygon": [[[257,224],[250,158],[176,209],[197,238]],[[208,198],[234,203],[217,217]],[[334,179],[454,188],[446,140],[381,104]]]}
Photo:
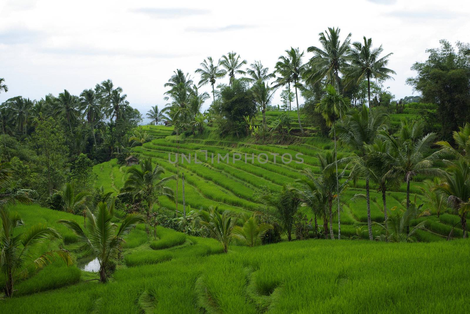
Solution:
{"label": "dark green bushy tree right of two small yellowish palms, below terraces", "polygon": [[274,218],[291,241],[294,215],[300,205],[297,194],[290,187],[283,186],[279,195],[262,195],[260,200],[267,207],[267,214]]}

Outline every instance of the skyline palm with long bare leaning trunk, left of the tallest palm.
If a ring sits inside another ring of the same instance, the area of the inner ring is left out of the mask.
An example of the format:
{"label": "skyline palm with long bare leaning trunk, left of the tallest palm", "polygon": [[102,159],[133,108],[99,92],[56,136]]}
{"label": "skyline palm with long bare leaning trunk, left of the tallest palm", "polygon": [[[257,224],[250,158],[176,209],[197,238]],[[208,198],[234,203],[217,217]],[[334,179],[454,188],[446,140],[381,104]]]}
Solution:
{"label": "skyline palm with long bare leaning trunk, left of the tallest palm", "polygon": [[[298,93],[297,93],[297,88],[302,86],[300,84],[300,80],[302,78],[302,73],[304,72],[304,69],[305,69],[305,65],[302,64],[302,57],[304,56],[304,52],[302,51],[302,53],[300,53],[298,48],[293,48],[293,47],[290,47],[290,50],[287,49],[285,52],[287,53],[287,56],[279,57],[276,63],[276,69],[280,69],[278,70],[278,72],[281,71],[279,73],[282,75],[282,77],[284,77],[284,81],[280,81],[281,83],[282,82],[287,83],[286,79],[289,79],[289,77],[292,79],[292,82],[294,83],[295,97],[296,97],[296,102],[297,102],[298,126],[300,128],[300,132],[304,134],[304,130],[302,129],[302,123],[300,123],[300,110],[298,108]],[[290,89],[290,85],[289,85],[289,89]]]}

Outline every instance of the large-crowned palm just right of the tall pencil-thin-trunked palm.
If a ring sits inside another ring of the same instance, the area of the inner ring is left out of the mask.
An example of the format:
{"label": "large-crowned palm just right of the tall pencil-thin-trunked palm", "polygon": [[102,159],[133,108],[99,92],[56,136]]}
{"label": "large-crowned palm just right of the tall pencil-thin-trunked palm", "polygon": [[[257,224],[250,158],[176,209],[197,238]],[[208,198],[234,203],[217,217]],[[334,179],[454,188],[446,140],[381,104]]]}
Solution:
{"label": "large-crowned palm just right of the tall pencil-thin-trunked palm", "polygon": [[[359,158],[366,159],[366,154],[368,153],[367,145],[373,144],[378,137],[379,132],[386,128],[387,120],[388,115],[385,113],[379,112],[377,110],[371,110],[366,106],[362,106],[360,111],[354,111],[352,114],[345,115],[345,119],[336,126],[336,134],[342,142],[359,152]],[[371,161],[374,160],[376,159],[372,158]],[[346,160],[342,161],[341,163],[346,163]],[[367,224],[369,239],[373,240],[372,221],[370,218],[369,179],[372,176],[377,183],[382,183],[382,178],[385,179],[385,177],[380,176],[378,173],[372,171],[368,163],[370,163],[370,161],[363,160],[355,162],[355,165],[359,167],[360,173],[363,174],[366,179]],[[385,164],[386,163],[381,162],[381,165]],[[384,184],[385,182],[386,181],[384,181]],[[385,193],[385,189],[383,193]],[[384,207],[386,207],[385,203]],[[386,218],[386,210],[384,211],[384,214]]]}

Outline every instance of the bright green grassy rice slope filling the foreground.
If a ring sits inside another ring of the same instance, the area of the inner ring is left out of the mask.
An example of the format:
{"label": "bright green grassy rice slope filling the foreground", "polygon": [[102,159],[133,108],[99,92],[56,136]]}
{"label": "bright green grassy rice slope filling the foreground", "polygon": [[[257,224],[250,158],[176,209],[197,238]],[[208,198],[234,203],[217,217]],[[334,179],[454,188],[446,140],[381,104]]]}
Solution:
{"label": "bright green grassy rice slope filling the foreground", "polygon": [[[27,225],[38,217],[49,217],[46,220],[51,225],[55,219],[71,218],[38,206],[18,206],[16,210]],[[75,218],[80,221],[81,217]],[[140,231],[134,230],[131,238]],[[468,241],[390,244],[305,240],[255,248],[232,245],[230,252],[223,254],[213,239],[187,237],[164,228],[157,232],[161,239],[156,243],[175,246],[152,250],[154,240],[145,239],[126,248],[109,283],[82,279],[36,294],[18,296],[21,291],[17,291],[13,299],[0,301],[0,313],[470,311],[466,293],[469,277],[462,276],[468,270],[462,262],[470,258]],[[48,275],[45,272],[39,271],[17,288],[28,282],[41,286],[44,283],[39,279]],[[82,272],[82,278],[91,276]]]}

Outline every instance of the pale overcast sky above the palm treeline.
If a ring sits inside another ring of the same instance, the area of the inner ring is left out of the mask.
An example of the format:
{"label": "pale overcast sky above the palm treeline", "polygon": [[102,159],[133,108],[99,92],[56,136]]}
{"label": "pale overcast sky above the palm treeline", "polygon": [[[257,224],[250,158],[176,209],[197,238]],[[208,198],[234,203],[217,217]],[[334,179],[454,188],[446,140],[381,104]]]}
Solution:
{"label": "pale overcast sky above the palm treeline", "polygon": [[64,89],[79,94],[110,78],[145,113],[165,104],[163,84],[176,69],[198,82],[194,71],[204,58],[234,50],[272,70],[290,46],[318,46],[328,27],[393,52],[389,67],[397,75],[385,86],[401,98],[412,94],[405,80],[426,48],[442,38],[470,41],[470,4],[463,0],[158,2],[0,0],[0,77],[9,88],[0,102]]}

